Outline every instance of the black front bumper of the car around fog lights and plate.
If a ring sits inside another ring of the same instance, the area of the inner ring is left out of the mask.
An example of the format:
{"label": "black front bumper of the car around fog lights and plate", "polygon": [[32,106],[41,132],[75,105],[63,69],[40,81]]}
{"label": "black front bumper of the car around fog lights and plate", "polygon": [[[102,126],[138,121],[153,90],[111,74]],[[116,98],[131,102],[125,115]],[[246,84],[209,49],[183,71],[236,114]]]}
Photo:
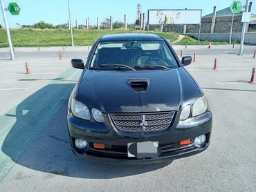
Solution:
{"label": "black front bumper of the car around fog lights and plate", "polygon": [[[164,133],[150,133],[145,135],[125,135],[111,128],[109,118],[104,124],[88,122],[74,117],[68,113],[68,133],[71,139],[73,153],[86,160],[105,162],[112,164],[150,164],[156,162],[172,161],[182,157],[188,157],[201,153],[210,144],[210,133],[212,130],[212,113],[207,111],[198,117],[192,117],[185,121],[177,120]],[[206,135],[206,142],[201,147],[194,146],[194,138]],[[86,140],[89,143],[84,149],[75,147],[75,138]],[[180,146],[181,140],[192,139],[190,144]],[[130,142],[158,141],[161,153],[156,158],[137,159],[128,157],[127,144]],[[93,148],[93,143],[105,144],[105,149]]]}

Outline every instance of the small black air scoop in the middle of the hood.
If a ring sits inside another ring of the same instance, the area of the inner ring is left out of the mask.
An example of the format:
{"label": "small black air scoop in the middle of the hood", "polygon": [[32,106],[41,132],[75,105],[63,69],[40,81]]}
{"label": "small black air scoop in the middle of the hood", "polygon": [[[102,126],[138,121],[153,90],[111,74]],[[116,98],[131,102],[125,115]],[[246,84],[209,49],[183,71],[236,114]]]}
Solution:
{"label": "small black air scoop in the middle of the hood", "polygon": [[147,90],[149,79],[147,78],[131,78],[127,79],[127,83],[134,90],[134,92],[143,92]]}

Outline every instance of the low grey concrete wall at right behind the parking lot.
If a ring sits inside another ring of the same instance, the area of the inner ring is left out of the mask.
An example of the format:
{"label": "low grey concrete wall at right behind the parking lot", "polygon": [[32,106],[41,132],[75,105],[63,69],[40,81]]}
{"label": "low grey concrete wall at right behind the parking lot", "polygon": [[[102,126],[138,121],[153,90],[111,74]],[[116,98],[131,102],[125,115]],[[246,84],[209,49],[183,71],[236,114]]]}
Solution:
{"label": "low grey concrete wall at right behind the parking lot", "polygon": [[[198,33],[190,33],[190,36],[197,39]],[[229,42],[229,33],[201,33],[200,40],[205,41],[226,41]],[[232,42],[240,42],[241,33],[233,32],[232,33]],[[244,44],[253,44],[256,45],[256,33],[246,33],[244,37]]]}

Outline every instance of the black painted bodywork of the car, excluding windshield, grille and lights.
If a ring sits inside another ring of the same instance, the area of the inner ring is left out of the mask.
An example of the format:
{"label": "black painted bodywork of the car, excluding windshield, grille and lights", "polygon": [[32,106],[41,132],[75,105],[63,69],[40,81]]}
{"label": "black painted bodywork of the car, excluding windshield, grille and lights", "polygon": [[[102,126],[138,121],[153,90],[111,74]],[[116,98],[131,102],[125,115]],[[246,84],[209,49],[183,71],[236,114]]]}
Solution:
{"label": "black painted bodywork of the car, excluding windshield, grille and lights", "polygon": [[[176,68],[156,70],[91,70],[89,64],[97,45],[102,41],[165,41],[177,62]],[[131,81],[146,81],[146,90],[131,88]],[[71,148],[76,155],[89,160],[118,164],[152,163],[174,160],[200,153],[210,144],[212,113],[210,109],[202,115],[180,120],[181,109],[192,106],[203,91],[182,66],[170,44],[157,35],[107,35],[93,45],[80,80],[68,102],[68,133]],[[76,99],[89,109],[102,111],[104,123],[75,117],[71,111],[71,99]],[[172,122],[161,131],[125,132],[114,124],[111,114],[150,115],[173,112]],[[205,135],[200,147],[194,146],[194,138]],[[75,139],[88,142],[86,148],[75,146]],[[186,146],[181,140],[191,139]],[[157,158],[136,159],[127,157],[127,144],[131,142],[158,141],[161,154]],[[98,149],[93,143],[104,144]]]}

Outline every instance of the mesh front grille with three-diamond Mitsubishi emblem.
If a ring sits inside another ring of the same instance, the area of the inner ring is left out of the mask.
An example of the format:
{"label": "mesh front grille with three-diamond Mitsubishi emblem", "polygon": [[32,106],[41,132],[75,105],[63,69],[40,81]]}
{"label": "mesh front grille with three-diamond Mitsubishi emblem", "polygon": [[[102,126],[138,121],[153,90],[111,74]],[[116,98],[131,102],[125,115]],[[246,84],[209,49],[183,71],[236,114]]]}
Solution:
{"label": "mesh front grille with three-diamond Mitsubishi emblem", "polygon": [[149,133],[163,131],[172,123],[174,111],[165,113],[119,113],[110,114],[118,131]]}

